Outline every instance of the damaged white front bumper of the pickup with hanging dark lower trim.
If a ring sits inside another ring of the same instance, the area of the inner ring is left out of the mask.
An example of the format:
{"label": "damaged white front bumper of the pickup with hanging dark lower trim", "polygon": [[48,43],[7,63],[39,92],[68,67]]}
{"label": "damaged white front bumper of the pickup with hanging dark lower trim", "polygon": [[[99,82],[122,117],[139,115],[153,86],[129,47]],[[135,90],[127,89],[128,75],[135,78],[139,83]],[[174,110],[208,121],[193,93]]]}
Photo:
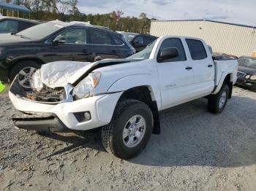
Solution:
{"label": "damaged white front bumper of the pickup with hanging dark lower trim", "polygon": [[[26,96],[15,87],[15,81],[9,91],[10,100],[23,116],[12,118],[18,128],[29,130],[90,130],[107,125],[113,115],[119,93],[106,93],[95,95],[89,98],[83,98],[73,101],[68,98],[56,103],[35,101]],[[15,87],[15,88],[13,88]],[[65,93],[69,88],[64,88]],[[66,93],[67,94],[67,93]],[[85,113],[90,114],[90,119],[86,120]]]}

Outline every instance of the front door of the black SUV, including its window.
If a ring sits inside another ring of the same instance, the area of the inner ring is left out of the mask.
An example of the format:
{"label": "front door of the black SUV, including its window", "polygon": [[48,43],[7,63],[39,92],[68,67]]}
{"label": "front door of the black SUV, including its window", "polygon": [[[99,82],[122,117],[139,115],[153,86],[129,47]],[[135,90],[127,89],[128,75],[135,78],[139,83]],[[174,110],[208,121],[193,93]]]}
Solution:
{"label": "front door of the black SUV, including its window", "polygon": [[64,42],[52,46],[52,61],[91,61],[86,28],[68,28],[57,36],[64,37]]}

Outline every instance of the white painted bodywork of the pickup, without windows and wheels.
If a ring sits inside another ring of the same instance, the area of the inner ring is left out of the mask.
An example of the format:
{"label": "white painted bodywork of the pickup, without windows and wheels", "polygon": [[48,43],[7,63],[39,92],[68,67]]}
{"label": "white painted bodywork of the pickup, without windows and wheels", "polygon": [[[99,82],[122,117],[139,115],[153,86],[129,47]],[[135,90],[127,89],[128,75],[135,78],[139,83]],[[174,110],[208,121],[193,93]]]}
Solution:
{"label": "white painted bodywork of the pickup, without windows and wheels", "polygon": [[[157,55],[162,42],[171,38],[181,40],[187,55],[186,61],[158,63]],[[207,44],[201,39],[197,39],[203,43],[208,56],[202,60],[194,61],[186,43],[187,38],[195,39],[182,36],[159,37],[148,59],[115,59],[86,63],[86,66],[78,69],[78,75],[67,77],[66,81],[61,82],[61,85],[74,83],[92,67],[102,65],[102,67],[94,70],[101,73],[101,78],[92,90],[94,95],[92,97],[53,105],[20,98],[12,92],[9,93],[10,99],[15,108],[21,112],[53,113],[67,128],[89,130],[107,125],[122,93],[133,87],[148,87],[152,101],[157,101],[158,110],[162,110],[211,93],[218,93],[227,74],[231,74],[230,81],[235,84],[238,68],[236,60],[213,61]],[[104,66],[110,61],[126,63]],[[48,63],[48,65],[50,64],[53,63]],[[187,69],[187,67],[192,69]],[[53,84],[51,83],[51,87],[54,86]],[[78,122],[73,113],[86,111],[91,112],[91,120]]]}

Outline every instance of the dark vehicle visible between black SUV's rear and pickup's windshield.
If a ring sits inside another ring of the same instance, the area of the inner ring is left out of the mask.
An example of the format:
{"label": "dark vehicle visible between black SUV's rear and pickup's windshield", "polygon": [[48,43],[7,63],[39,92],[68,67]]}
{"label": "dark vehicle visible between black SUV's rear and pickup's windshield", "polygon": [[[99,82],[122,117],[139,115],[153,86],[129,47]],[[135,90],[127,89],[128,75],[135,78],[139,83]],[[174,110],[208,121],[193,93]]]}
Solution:
{"label": "dark vehicle visible between black SUV's rear and pickup's windshield", "polygon": [[119,32],[124,35],[125,39],[132,44],[132,47],[135,48],[136,52],[140,52],[148,44],[154,42],[157,39],[157,36],[152,36],[148,34],[137,34],[137,33],[128,33],[128,32]]}

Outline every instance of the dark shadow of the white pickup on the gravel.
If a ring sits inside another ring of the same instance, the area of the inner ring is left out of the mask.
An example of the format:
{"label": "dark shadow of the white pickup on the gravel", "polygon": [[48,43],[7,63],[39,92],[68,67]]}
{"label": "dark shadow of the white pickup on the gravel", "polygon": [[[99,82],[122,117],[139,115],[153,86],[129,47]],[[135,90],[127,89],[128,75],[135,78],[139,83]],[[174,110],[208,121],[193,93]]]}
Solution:
{"label": "dark shadow of the white pickup on the gravel", "polygon": [[[207,112],[207,101],[203,98],[167,109],[160,113],[161,134],[152,135],[146,149],[129,163],[151,166],[255,165],[255,112],[256,101],[239,96],[228,101],[222,114]],[[105,152],[99,133],[90,136],[53,134],[48,137],[72,145],[47,157],[79,147]]]}

